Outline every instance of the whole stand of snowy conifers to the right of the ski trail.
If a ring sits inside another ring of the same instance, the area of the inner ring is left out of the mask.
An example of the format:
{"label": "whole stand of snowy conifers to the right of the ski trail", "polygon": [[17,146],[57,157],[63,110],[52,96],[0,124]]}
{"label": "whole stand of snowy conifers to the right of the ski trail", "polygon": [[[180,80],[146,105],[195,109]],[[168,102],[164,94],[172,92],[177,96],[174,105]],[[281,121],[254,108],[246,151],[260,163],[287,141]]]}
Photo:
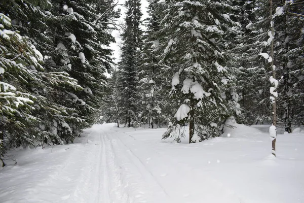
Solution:
{"label": "whole stand of snowy conifers to the right of the ski trail", "polygon": [[301,6],[273,0],[270,15],[264,0],[151,0],[143,34],[130,32],[137,11],[128,9],[118,66],[121,121],[169,123],[163,138],[189,133],[197,142],[218,136],[231,115],[257,124],[276,120],[277,109],[277,124],[291,132],[302,124]]}

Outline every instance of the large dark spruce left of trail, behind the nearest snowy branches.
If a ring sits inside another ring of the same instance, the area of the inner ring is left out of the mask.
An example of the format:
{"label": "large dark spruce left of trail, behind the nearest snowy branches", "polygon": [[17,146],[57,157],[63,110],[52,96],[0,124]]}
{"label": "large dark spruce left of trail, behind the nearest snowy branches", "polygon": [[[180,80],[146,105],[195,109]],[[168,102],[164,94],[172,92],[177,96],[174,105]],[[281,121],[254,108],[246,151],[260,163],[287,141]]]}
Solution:
{"label": "large dark spruce left of trail, behind the nearest snowy branches", "polygon": [[[42,130],[53,134],[53,143],[72,142],[79,130],[96,120],[104,73],[112,62],[106,47],[114,41],[109,24],[118,13],[111,9],[112,1],[51,3],[10,1],[0,8],[13,18],[12,28],[28,36],[41,51],[46,78],[60,75],[60,80],[47,87],[32,89],[47,98],[35,116],[42,120]],[[81,86],[74,84],[75,78]]]}

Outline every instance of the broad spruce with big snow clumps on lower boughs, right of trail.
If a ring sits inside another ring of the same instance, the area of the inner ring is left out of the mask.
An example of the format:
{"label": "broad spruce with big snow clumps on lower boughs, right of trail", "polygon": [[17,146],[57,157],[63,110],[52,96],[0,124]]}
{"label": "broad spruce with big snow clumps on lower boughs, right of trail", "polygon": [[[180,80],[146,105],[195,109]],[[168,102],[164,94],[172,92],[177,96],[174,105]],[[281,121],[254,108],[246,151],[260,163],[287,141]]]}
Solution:
{"label": "broad spruce with big snow clumps on lower boughs, right of trail", "polygon": [[224,2],[168,1],[162,33],[170,40],[164,46],[164,60],[176,64],[172,94],[180,105],[173,126],[164,134],[183,134],[180,126],[189,123],[189,143],[219,135],[220,121],[232,114],[221,93],[229,85],[223,36],[237,26]]}

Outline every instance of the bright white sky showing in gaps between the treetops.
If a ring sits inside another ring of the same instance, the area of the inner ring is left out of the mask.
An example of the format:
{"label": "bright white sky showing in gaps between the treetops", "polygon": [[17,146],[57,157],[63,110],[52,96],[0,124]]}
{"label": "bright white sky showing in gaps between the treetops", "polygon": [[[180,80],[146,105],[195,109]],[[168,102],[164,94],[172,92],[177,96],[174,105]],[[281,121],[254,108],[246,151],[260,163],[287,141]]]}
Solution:
{"label": "bright white sky showing in gaps between the treetops", "polygon": [[[125,4],[125,0],[118,0],[120,5]],[[141,0],[141,12],[142,12],[142,17],[141,20],[145,19],[148,15],[146,12],[146,7],[148,6],[148,3],[146,0]],[[124,18],[125,18],[125,12],[126,8],[124,6],[118,6],[117,8],[121,9],[121,17],[117,20],[117,24],[124,24]],[[116,43],[111,43],[110,48],[113,50],[113,55],[116,58],[115,62],[119,61],[120,57],[120,46],[122,45],[122,41],[120,39],[120,33],[122,32],[121,28],[120,30],[114,30],[112,32],[112,36],[115,37]]]}

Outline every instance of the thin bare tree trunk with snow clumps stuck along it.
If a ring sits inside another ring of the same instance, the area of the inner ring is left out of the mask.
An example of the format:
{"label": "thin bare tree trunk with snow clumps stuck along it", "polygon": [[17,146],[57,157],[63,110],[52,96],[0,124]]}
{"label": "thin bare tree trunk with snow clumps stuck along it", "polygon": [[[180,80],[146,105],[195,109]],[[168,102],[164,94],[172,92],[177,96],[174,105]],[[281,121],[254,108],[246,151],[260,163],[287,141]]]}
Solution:
{"label": "thin bare tree trunk with snow clumps stuck along it", "polygon": [[[273,22],[273,0],[270,0],[270,21],[271,21],[271,33],[272,36],[275,36],[275,29],[274,29],[274,22]],[[271,65],[271,70],[272,70],[272,77],[273,79],[276,79],[276,67],[274,66],[274,39],[272,39],[271,41],[271,45],[270,45],[270,56],[272,58],[272,60],[270,61],[270,65]],[[275,86],[274,91],[276,91],[276,83],[272,82],[272,85]],[[273,96],[273,126],[276,127],[277,125],[277,96],[275,96],[274,94],[272,94],[271,96]],[[273,132],[274,133],[274,132]],[[277,140],[277,130],[275,130],[275,134],[270,134],[271,138],[272,138],[272,154],[274,156],[276,156],[276,140]]]}

